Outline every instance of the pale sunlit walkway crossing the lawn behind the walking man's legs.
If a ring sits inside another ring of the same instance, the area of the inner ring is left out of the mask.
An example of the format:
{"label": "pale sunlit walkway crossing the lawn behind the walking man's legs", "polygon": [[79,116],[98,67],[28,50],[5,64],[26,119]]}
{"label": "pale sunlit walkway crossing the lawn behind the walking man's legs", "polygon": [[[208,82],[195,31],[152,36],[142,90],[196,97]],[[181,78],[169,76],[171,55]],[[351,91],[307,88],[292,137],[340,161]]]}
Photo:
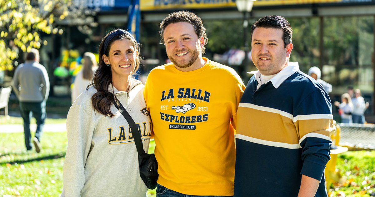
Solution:
{"label": "pale sunlit walkway crossing the lawn behind the walking man's legs", "polygon": [[[30,124],[31,132],[35,132],[36,124]],[[44,124],[43,132],[64,132],[66,123]],[[24,132],[23,125],[0,125],[0,133]]]}

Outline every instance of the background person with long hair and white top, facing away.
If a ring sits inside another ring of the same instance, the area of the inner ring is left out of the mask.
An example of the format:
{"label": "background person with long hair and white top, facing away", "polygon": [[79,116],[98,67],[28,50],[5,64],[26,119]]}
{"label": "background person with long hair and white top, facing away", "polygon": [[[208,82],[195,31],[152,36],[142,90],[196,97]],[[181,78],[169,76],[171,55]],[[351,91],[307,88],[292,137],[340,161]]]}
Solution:
{"label": "background person with long hair and white top, facing away", "polygon": [[98,68],[95,55],[90,52],[83,54],[83,68],[75,75],[72,88],[72,104],[78,96],[92,83],[93,71]]}

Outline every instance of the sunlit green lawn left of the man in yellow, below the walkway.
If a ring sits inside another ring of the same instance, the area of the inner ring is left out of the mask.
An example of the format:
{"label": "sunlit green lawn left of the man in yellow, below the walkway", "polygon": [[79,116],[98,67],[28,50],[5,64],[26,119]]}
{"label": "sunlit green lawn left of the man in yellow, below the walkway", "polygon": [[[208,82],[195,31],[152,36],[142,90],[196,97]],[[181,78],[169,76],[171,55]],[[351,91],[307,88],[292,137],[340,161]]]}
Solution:
{"label": "sunlit green lawn left of the man in yellow, below the walkway", "polygon": [[[34,134],[32,134],[33,136]],[[42,150],[27,151],[23,133],[0,133],[0,196],[58,197],[63,189],[66,132],[44,132]],[[149,152],[153,153],[154,141]],[[148,191],[156,196],[155,189]]]}

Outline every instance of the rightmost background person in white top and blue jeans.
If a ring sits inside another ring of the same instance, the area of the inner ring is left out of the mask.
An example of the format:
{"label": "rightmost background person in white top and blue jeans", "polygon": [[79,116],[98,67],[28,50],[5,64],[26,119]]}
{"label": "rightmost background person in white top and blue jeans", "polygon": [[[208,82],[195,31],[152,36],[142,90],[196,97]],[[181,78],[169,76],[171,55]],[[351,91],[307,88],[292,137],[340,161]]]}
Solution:
{"label": "rightmost background person in white top and blue jeans", "polygon": [[365,116],[364,113],[366,109],[369,107],[369,102],[365,103],[365,99],[361,96],[361,90],[356,89],[355,97],[352,98],[354,110],[352,113],[352,120],[353,123],[363,124],[365,123]]}

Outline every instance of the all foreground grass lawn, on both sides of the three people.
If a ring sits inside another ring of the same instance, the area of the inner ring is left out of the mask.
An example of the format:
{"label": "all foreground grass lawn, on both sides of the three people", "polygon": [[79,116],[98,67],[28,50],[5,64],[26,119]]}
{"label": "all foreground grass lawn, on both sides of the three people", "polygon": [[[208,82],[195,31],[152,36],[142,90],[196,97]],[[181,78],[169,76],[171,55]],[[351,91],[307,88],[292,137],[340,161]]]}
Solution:
{"label": "all foreground grass lawn, on both sides of the three people", "polygon": [[[45,132],[42,151],[26,151],[23,133],[0,133],[0,196],[58,197],[63,188],[63,163],[68,145],[66,132]],[[153,153],[154,141],[149,153]],[[339,155],[341,183],[329,196],[370,197],[375,195],[375,151],[348,151]],[[154,197],[155,189],[148,191]]]}

